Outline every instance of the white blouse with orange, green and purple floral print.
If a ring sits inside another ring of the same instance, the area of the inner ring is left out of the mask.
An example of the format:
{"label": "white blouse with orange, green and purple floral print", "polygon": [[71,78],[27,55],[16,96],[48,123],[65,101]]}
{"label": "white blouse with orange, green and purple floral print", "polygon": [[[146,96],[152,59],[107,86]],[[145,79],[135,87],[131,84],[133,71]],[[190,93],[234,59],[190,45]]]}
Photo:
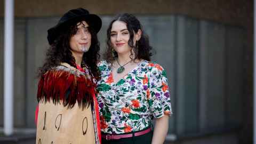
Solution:
{"label": "white blouse with orange, green and purple floral print", "polygon": [[166,73],[157,63],[143,60],[117,83],[114,83],[110,63],[101,61],[98,66],[102,132],[140,131],[151,125],[151,119],[172,114]]}

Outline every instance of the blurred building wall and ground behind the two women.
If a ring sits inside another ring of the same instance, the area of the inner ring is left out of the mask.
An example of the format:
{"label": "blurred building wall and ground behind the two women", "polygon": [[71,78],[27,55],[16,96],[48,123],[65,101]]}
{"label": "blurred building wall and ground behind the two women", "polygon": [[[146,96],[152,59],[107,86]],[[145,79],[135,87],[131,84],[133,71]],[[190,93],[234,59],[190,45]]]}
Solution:
{"label": "blurred building wall and ground behind the two women", "polygon": [[99,14],[101,53],[117,13],[141,21],[166,69],[173,115],[166,143],[252,143],[253,1],[14,1],[14,134],[4,135],[4,1],[0,0],[0,143],[35,143],[36,71],[47,29],[70,9]]}

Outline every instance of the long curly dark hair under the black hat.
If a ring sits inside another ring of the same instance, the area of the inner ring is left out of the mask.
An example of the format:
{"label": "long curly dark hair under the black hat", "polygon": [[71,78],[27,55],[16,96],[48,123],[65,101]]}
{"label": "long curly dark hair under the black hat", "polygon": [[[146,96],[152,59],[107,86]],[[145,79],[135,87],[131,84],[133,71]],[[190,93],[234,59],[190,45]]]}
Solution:
{"label": "long curly dark hair under the black hat", "polygon": [[[37,77],[41,77],[46,73],[46,71],[50,70],[52,67],[60,65],[61,62],[66,62],[70,66],[76,67],[75,58],[70,51],[71,48],[69,42],[70,38],[76,34],[76,31],[78,30],[77,26],[83,25],[82,21],[86,20],[73,21],[70,23],[68,28],[66,27],[63,30],[60,30],[61,33],[55,39],[54,43],[50,45],[46,52],[44,65],[38,68]],[[98,80],[100,78],[100,73],[97,63],[100,59],[100,43],[98,41],[97,33],[95,33],[95,30],[92,27],[90,27],[90,23],[87,23],[92,36],[91,46],[89,51],[83,54],[81,67],[88,66],[90,68],[90,74]]]}

